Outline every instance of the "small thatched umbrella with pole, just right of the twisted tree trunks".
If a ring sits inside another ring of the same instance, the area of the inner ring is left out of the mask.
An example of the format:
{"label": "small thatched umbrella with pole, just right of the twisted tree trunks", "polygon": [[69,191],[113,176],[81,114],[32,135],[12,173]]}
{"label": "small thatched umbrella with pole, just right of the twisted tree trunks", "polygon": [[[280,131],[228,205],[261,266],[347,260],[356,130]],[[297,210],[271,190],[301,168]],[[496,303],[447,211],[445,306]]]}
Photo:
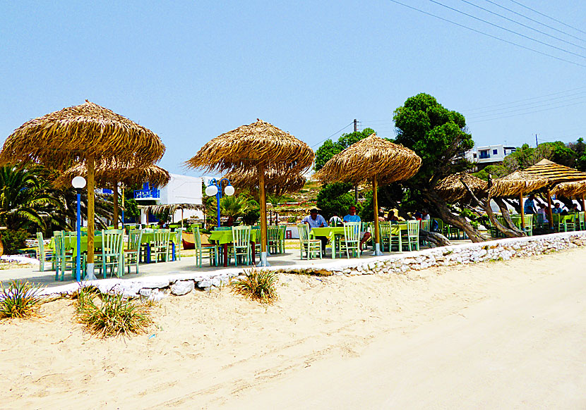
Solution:
{"label": "small thatched umbrella with pole, just right of the twisted tree trunks", "polygon": [[493,181],[489,197],[518,197],[521,209],[521,228],[525,229],[525,209],[523,209],[523,195],[540,190],[549,184],[547,178],[541,175],[516,170],[514,173]]}

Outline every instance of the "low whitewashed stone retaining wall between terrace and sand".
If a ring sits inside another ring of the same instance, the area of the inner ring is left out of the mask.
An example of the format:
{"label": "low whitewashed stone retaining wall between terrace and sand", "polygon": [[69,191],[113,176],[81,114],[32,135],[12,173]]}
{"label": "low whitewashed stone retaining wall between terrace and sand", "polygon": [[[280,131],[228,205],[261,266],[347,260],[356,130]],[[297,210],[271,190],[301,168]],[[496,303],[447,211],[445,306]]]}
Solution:
{"label": "low whitewashed stone retaining wall between terrace and sand", "polygon": [[[515,257],[548,254],[575,247],[586,246],[586,231],[562,232],[534,237],[508,238],[477,244],[459,244],[424,251],[380,256],[366,260],[340,259],[330,263],[300,263],[286,268],[265,268],[285,273],[310,273],[316,275],[372,275],[377,273],[405,273],[407,271],[451,266],[460,263],[507,261]],[[127,297],[161,299],[167,294],[181,295],[195,288],[209,289],[227,285],[229,280],[242,275],[243,268],[222,269],[215,272],[193,272],[165,276],[145,276],[133,279],[104,279],[83,282],[83,286],[95,286],[101,292],[122,293]],[[50,287],[42,294],[73,294],[77,283]]]}

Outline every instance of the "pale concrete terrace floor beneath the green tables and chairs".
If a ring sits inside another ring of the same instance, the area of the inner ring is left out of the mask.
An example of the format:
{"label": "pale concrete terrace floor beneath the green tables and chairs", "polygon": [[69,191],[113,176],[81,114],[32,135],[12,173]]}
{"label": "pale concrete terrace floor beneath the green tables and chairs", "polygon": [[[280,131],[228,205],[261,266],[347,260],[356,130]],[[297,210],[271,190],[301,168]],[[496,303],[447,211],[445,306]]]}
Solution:
{"label": "pale concrete terrace floor beneath the green tables and chairs", "polygon": [[[452,244],[460,244],[460,243],[470,243],[470,240],[452,240]],[[427,247],[420,247],[421,250],[427,249]],[[385,255],[392,255],[398,254],[398,252],[384,252]],[[403,254],[408,254],[407,251],[404,251]],[[363,254],[361,254],[359,260],[368,260],[372,259],[372,251],[366,250]],[[258,258],[257,258],[258,259]],[[311,259],[307,261],[306,259],[301,260],[299,257],[299,242],[297,240],[288,240],[286,247],[285,247],[285,254],[275,254],[268,257],[268,262],[272,267],[287,267],[290,268],[295,265],[304,265],[307,266],[309,264],[313,266],[319,266],[324,263],[331,263],[334,261],[348,261],[348,260],[357,260],[356,258],[346,259],[344,256],[342,259],[336,258],[332,259],[331,257],[331,249],[328,247],[326,250],[325,257],[323,259]],[[250,266],[241,266],[239,265],[238,268],[249,268]],[[71,273],[66,272],[65,280],[61,282],[61,280],[55,280],[55,271],[47,271],[47,268],[50,268],[50,263],[46,263],[45,271],[40,272],[37,267],[35,268],[13,268],[13,269],[5,269],[0,270],[0,282],[8,282],[8,280],[28,280],[29,282],[34,282],[35,284],[47,286],[47,287],[54,287],[59,285],[65,285],[67,283],[74,282],[75,280],[71,279]],[[138,277],[144,276],[161,276],[161,275],[172,275],[177,273],[192,273],[192,272],[210,272],[210,271],[217,271],[217,270],[224,270],[234,268],[234,259],[232,259],[232,264],[224,268],[223,266],[210,266],[207,260],[203,261],[203,268],[198,268],[195,265],[195,257],[193,250],[184,250],[181,251],[181,261],[172,261],[172,262],[159,262],[159,263],[140,263],[138,268],[138,275],[134,273],[134,268],[131,268],[131,274],[124,275],[123,278],[133,279]],[[98,279],[103,278],[100,276],[99,271],[96,269],[95,275]]]}

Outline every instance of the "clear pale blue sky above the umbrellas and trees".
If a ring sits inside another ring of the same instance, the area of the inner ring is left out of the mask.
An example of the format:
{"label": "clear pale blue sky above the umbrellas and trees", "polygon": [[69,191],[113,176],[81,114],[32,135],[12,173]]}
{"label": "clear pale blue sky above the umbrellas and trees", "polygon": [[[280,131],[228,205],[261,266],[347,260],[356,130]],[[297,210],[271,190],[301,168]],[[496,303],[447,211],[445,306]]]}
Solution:
{"label": "clear pale blue sky above the umbrellas and trees", "polygon": [[157,132],[167,146],[163,167],[196,175],[182,163],[209,139],[256,118],[309,145],[354,118],[393,137],[393,110],[419,92],[464,113],[477,145],[534,144],[535,133],[540,141],[586,136],[586,4],[519,0],[580,32],[493,0],[558,32],[469,0],[563,42],[462,0],[437,1],[578,55],[429,0],[402,0],[583,66],[389,0],[3,1],[0,138],[30,118],[89,99]]}

